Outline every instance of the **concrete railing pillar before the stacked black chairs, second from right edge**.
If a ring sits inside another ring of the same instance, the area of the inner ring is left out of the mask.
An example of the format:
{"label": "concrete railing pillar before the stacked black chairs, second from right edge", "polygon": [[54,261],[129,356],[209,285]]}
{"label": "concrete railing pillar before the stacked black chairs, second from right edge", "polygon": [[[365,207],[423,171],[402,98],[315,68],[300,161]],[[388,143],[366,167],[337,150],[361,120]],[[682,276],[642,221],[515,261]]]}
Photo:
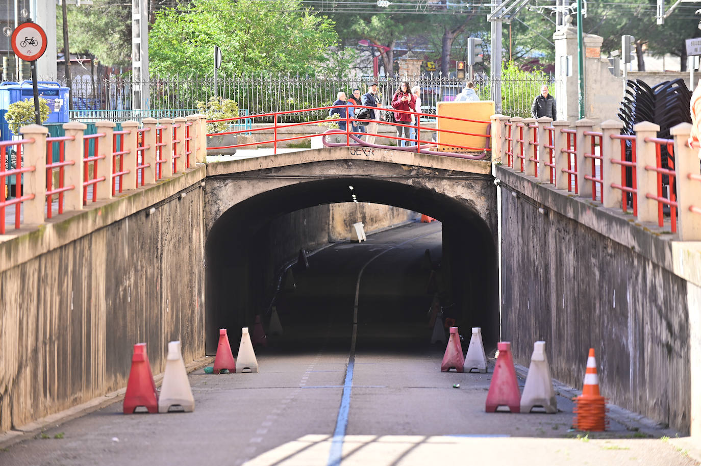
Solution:
{"label": "concrete railing pillar before the stacked black chairs, second from right edge", "polygon": [[658,221],[658,201],[648,199],[647,193],[657,196],[657,173],[645,170],[646,165],[657,165],[657,154],[654,142],[645,142],[646,137],[657,137],[660,125],[643,121],[633,126],[635,131],[636,182],[638,199],[638,220]]}

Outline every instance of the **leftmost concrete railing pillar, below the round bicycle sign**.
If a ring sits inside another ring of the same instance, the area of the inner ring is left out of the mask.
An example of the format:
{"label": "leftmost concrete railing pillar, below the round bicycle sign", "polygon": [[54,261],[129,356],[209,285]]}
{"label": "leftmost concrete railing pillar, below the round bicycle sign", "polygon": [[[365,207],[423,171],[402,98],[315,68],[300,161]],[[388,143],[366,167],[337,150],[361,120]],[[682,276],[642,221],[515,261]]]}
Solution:
{"label": "leftmost concrete railing pillar, below the round bicycle sign", "polygon": [[[20,128],[25,139],[34,139],[22,145],[22,160],[17,167],[34,167],[33,172],[22,174],[24,191],[22,195],[34,194],[33,199],[25,200],[24,224],[43,224],[46,212],[46,135],[48,130],[41,125],[27,125]],[[18,180],[20,175],[18,175]],[[20,207],[17,207],[20,208]]]}

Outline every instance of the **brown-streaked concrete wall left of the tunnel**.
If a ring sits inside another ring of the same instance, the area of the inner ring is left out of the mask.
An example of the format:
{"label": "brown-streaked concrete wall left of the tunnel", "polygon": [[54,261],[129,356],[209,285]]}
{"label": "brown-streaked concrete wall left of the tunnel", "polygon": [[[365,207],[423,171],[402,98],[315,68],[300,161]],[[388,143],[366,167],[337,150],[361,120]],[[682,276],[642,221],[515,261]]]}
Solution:
{"label": "brown-streaked concrete wall left of the tunnel", "polygon": [[186,362],[204,355],[204,174],[0,243],[0,432],[125,387],[134,343],[154,374],[168,341]]}

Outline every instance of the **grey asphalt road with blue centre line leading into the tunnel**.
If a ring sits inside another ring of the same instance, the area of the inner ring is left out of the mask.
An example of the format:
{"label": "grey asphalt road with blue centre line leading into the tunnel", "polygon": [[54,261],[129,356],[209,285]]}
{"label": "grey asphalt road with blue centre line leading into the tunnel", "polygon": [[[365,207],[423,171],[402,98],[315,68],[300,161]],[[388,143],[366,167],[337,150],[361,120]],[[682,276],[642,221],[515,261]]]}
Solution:
{"label": "grey asphalt road with blue centre line leading into the tunnel", "polygon": [[442,373],[444,347],[428,343],[423,257],[440,257],[440,232],[412,224],[311,256],[260,372],[194,371],[193,413],[125,416],[118,402],[5,448],[0,465],[698,464],[661,431],[572,431],[566,397],[556,414],[485,413],[491,368]]}

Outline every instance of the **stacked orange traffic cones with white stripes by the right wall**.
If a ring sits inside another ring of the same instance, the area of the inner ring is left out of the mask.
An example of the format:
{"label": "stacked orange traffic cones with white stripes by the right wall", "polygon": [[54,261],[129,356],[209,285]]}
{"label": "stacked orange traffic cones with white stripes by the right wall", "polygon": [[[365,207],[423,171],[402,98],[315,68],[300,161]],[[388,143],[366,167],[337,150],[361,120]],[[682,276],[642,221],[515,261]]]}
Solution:
{"label": "stacked orange traffic cones with white stripes by the right wall", "polygon": [[597,374],[597,359],[594,357],[594,348],[589,349],[582,395],[576,397],[574,401],[576,404],[574,427],[576,429],[594,432],[606,430],[608,427],[606,399],[599,392],[599,374]]}

